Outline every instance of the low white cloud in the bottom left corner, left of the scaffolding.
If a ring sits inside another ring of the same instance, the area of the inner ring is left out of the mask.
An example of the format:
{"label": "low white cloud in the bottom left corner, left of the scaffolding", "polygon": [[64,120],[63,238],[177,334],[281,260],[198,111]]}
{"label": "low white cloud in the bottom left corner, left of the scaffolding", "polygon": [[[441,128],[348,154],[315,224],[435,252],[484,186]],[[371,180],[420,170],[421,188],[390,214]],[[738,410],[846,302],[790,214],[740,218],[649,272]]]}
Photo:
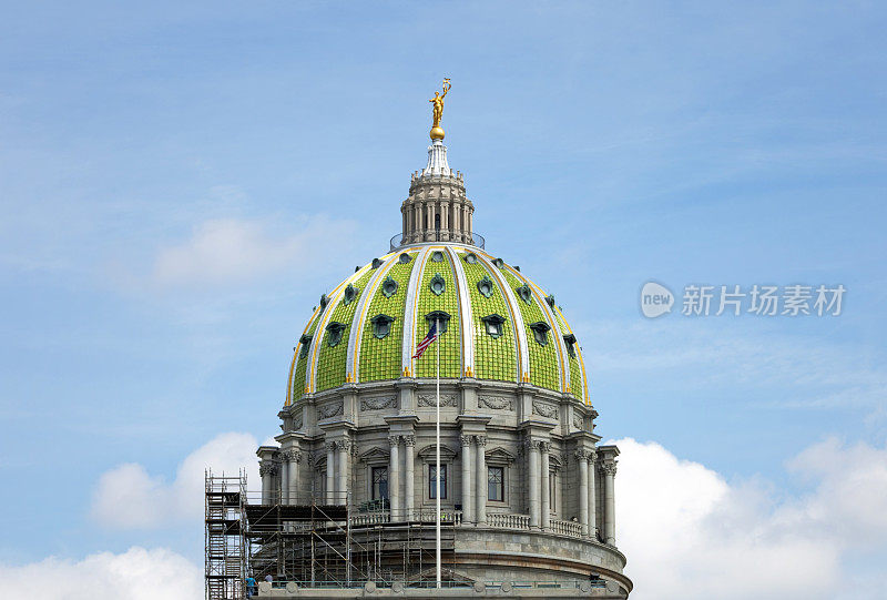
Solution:
{"label": "low white cloud in the bottom left corner, left of the scaffolding", "polygon": [[32,600],[194,600],[203,597],[202,569],[166,549],[133,547],[73,561],[49,557],[0,565],[0,598]]}

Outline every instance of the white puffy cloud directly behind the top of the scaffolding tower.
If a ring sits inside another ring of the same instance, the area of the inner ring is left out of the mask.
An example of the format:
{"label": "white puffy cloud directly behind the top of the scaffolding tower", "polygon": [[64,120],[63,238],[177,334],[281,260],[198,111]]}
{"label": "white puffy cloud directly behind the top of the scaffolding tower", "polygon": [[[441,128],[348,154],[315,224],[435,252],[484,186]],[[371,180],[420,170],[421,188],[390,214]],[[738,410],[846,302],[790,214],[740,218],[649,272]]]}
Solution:
{"label": "white puffy cloud directly behind the top of the scaffolding tower", "polygon": [[101,523],[120,529],[143,529],[177,522],[200,522],[203,515],[204,470],[236,475],[247,470],[257,486],[256,439],[248,434],[221,434],[191,452],[175,479],[151,476],[144,467],[125,464],[99,479],[92,513]]}

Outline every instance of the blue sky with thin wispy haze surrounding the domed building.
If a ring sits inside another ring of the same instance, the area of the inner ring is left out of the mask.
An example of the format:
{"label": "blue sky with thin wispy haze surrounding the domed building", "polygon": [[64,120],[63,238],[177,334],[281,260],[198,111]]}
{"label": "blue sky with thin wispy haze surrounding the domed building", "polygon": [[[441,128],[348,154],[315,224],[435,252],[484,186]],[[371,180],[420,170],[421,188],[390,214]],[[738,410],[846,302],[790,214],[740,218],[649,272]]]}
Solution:
{"label": "blue sky with thin wispy haze surrounding the domed building", "polygon": [[[786,464],[816,444],[885,444],[879,3],[2,13],[2,563],[201,560],[198,531],[102,522],[99,481],[275,433],[310,308],[399,231],[443,75],[476,228],[563,306],[599,433],[774,498],[815,487]],[[839,317],[649,321],[651,278],[847,294]]]}

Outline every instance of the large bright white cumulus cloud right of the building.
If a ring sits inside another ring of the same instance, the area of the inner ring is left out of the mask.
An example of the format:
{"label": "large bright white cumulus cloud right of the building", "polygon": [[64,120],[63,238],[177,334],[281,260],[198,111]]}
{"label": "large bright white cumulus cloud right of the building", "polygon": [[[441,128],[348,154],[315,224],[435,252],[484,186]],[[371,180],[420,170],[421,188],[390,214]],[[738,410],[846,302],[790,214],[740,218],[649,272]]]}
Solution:
{"label": "large bright white cumulus cloud right of the building", "polygon": [[812,491],[776,498],[659,444],[618,444],[616,533],[632,598],[880,597],[887,576],[850,557],[887,552],[887,448],[812,446],[788,464],[815,481]]}

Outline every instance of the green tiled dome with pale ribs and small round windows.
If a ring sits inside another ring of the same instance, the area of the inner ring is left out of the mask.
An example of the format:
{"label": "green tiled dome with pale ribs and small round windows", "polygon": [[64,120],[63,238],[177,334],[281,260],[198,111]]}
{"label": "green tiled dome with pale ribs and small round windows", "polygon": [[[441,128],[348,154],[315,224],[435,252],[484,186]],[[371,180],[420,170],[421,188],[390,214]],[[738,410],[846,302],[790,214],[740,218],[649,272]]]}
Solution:
{"label": "green tiled dome with pale ribs and small round windows", "polygon": [[358,268],[308,321],[289,368],[286,404],[346,383],[435,376],[529,383],[590,404],[582,354],[554,298],[520,271],[463,244],[399,248]]}

